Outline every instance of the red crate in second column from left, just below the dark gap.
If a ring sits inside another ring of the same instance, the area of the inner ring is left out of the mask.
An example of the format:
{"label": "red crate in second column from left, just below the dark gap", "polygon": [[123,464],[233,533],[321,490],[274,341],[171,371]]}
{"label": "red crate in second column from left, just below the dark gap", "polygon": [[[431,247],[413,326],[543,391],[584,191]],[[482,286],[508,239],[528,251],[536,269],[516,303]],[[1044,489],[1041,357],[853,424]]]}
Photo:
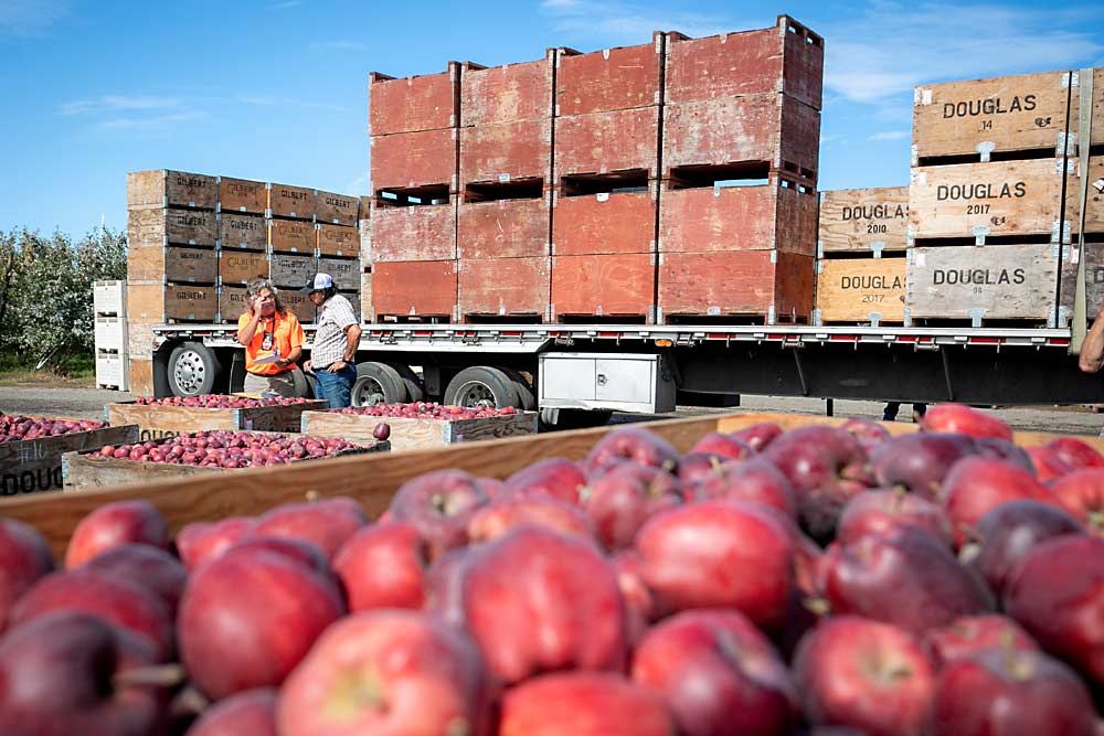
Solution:
{"label": "red crate in second column from left, just below the dark gap", "polygon": [[551,192],[527,200],[460,201],[456,254],[470,258],[532,258],[550,253]]}

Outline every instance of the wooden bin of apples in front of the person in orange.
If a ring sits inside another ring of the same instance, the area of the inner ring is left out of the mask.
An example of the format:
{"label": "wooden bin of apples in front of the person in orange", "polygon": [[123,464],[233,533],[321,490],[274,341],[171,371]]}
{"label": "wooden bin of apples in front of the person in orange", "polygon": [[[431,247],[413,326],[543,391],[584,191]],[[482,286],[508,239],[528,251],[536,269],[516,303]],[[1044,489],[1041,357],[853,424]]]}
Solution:
{"label": "wooden bin of apples in front of the person in orange", "polygon": [[116,402],[104,407],[104,419],[115,426],[138,425],[141,441],[172,437],[189,431],[235,429],[298,431],[299,417],[310,409],[327,407],[318,398],[254,398],[241,395],[201,394]]}

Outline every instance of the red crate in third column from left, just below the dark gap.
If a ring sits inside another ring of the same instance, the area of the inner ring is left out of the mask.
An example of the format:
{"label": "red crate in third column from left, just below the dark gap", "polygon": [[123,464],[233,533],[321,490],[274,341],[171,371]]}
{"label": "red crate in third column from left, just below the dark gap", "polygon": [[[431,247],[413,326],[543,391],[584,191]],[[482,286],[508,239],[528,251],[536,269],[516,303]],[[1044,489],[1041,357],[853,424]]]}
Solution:
{"label": "red crate in third column from left, just below the dark gap", "polygon": [[552,255],[655,253],[659,182],[645,191],[552,193]]}

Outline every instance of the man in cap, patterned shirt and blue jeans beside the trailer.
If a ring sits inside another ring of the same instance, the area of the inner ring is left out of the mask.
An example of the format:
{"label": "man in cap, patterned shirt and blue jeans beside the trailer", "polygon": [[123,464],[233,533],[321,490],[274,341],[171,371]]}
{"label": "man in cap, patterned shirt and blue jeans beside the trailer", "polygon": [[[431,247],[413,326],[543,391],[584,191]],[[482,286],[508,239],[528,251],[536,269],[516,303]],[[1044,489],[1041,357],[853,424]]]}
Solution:
{"label": "man in cap, patterned shirt and blue jeans beside the trailer", "polygon": [[352,385],[357,381],[357,348],[360,345],[360,320],[349,300],[337,292],[329,274],[316,274],[310,284],[299,289],[318,308],[310,360],[304,369],[314,373],[318,398],[329,402],[331,409],[349,406]]}

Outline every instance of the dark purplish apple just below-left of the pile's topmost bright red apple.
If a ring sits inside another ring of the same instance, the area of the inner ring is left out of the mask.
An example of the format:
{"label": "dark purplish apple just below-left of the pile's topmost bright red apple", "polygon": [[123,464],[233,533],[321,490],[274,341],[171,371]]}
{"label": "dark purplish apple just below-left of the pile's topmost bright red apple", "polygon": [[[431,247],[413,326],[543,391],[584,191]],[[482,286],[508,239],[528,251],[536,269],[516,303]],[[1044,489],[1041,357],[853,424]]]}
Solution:
{"label": "dark purplish apple just below-left of the pile's topmost bright red apple", "polygon": [[967,435],[923,431],[882,442],[871,452],[870,461],[879,486],[900,486],[936,500],[951,468],[975,451],[976,444]]}

